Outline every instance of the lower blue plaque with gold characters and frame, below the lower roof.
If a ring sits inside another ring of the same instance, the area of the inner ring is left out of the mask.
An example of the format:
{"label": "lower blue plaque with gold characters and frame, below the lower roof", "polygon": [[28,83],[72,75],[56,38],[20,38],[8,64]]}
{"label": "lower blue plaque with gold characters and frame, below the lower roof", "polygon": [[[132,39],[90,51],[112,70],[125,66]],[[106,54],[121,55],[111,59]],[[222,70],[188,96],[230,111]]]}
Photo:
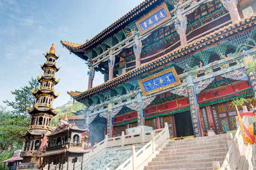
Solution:
{"label": "lower blue plaque with gold characters and frame, below the lower roof", "polygon": [[181,84],[174,67],[142,79],[138,83],[145,96]]}

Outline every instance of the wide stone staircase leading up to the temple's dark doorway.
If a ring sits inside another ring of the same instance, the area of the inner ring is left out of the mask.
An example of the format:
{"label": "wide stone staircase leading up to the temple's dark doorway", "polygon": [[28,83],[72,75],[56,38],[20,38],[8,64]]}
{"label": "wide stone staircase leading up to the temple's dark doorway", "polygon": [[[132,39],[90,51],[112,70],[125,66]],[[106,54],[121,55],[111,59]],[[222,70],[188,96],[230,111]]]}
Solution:
{"label": "wide stone staircase leading up to the temple's dark doorway", "polygon": [[212,161],[223,163],[232,135],[169,141],[145,170],[212,170]]}

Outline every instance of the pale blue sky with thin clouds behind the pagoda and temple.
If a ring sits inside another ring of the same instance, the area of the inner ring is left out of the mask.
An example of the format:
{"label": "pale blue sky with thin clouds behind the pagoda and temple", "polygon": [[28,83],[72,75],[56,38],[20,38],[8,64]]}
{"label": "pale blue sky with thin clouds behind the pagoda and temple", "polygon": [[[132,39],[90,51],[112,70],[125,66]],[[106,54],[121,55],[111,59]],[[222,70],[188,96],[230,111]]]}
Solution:
{"label": "pale blue sky with thin clouds behind the pagoda and temple", "polygon": [[[61,78],[55,92],[61,92],[54,107],[63,105],[70,96],[67,91],[85,91],[88,68],[84,60],[69,54],[60,40],[84,43],[142,0],[0,0],[0,105],[14,100],[10,91],[28,85],[31,77],[43,72],[39,64],[42,53],[55,43],[61,54],[56,73]],[[103,83],[103,75],[96,72],[93,86]],[[11,109],[11,108],[9,108]]]}

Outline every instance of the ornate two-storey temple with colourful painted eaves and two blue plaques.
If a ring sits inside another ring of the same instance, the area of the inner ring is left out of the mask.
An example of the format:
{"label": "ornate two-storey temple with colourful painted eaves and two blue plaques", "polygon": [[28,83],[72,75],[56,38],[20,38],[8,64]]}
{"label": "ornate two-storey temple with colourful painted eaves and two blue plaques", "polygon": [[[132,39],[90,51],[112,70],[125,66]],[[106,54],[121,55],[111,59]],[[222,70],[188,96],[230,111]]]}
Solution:
{"label": "ornate two-storey temple with colourful painted eaves and two blue plaques", "polygon": [[[232,100],[256,92],[244,60],[254,11],[253,0],[144,0],[83,44],[61,41],[89,68],[88,89],[68,94],[87,106],[90,143],[165,122],[171,138],[236,130]],[[95,71],[104,83],[93,87]]]}

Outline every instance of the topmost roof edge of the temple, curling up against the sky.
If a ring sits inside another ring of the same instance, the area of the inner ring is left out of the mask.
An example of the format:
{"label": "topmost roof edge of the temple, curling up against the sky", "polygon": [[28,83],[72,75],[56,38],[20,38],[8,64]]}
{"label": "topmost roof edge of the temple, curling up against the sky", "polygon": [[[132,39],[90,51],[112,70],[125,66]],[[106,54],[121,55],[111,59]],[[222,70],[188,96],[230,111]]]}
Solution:
{"label": "topmost roof edge of the temple, curling up against the sky", "polygon": [[62,41],[62,40],[61,40],[61,44],[64,46],[67,46],[69,48],[74,48],[74,47],[87,48],[87,47],[93,45],[95,42],[101,40],[102,37],[105,37],[107,34],[110,34],[114,29],[118,28],[119,26],[122,26],[123,23],[126,23],[128,20],[133,18],[135,15],[139,14],[141,11],[143,11],[147,7],[151,6],[154,2],[157,2],[157,0],[144,0],[139,5],[135,6],[133,9],[128,11],[126,14],[124,14],[118,20],[116,20],[114,23],[112,23],[110,26],[107,26],[105,29],[103,29],[101,32],[99,32],[96,36],[94,36],[90,40],[87,40],[83,44],[72,43],[69,41]]}

